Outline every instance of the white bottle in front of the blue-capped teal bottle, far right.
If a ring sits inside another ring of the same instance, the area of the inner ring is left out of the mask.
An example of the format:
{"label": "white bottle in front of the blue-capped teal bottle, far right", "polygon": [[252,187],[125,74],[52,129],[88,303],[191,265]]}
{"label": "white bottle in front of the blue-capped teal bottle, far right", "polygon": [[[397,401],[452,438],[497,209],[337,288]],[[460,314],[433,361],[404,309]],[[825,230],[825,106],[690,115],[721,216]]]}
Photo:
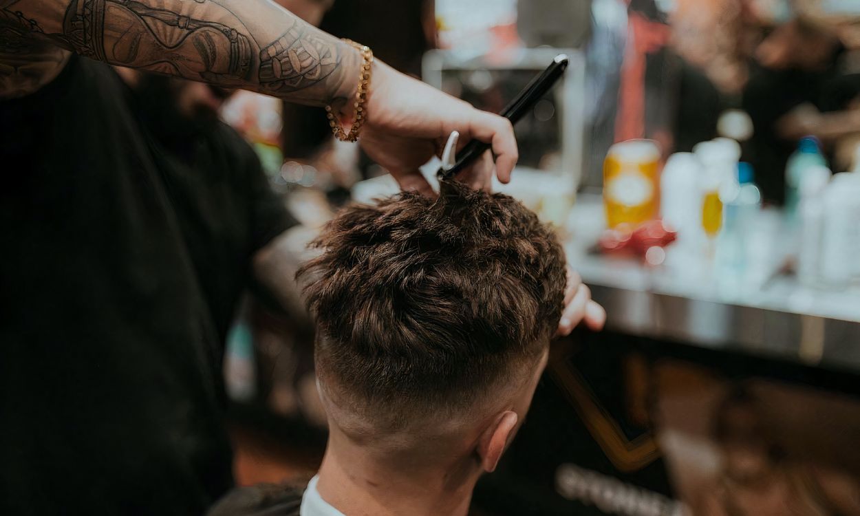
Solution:
{"label": "white bottle in front of the blue-capped teal bottle, far right", "polygon": [[825,192],[830,169],[810,167],[800,184],[800,241],[797,248],[797,280],[806,286],[820,285],[821,245],[824,232]]}

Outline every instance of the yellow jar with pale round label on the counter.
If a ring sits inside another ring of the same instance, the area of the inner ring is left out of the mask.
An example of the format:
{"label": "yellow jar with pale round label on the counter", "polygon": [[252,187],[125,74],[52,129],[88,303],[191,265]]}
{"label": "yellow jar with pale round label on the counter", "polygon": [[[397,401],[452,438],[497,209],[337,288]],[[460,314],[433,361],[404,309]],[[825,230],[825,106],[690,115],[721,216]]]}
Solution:
{"label": "yellow jar with pale round label on the counter", "polygon": [[606,223],[642,224],[660,212],[660,149],[652,140],[614,144],[603,164]]}

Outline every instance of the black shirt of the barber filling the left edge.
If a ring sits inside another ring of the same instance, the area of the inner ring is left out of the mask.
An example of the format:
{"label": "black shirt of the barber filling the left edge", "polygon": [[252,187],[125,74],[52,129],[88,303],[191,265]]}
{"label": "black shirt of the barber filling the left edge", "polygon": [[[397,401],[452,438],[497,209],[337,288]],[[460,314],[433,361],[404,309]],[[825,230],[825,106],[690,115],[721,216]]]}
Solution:
{"label": "black shirt of the barber filling the left edge", "polygon": [[77,56],[0,101],[0,514],[199,515],[230,488],[221,294],[288,223],[187,204],[247,160],[210,138],[212,176],[178,176],[120,78]]}

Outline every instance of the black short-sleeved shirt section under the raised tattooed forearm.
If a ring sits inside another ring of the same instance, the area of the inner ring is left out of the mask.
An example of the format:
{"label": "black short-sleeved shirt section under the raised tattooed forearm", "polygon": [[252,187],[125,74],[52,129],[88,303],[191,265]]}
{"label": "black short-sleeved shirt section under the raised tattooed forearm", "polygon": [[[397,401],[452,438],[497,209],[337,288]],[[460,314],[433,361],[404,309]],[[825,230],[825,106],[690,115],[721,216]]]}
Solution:
{"label": "black short-sleeved shirt section under the raised tattooed forearm", "polygon": [[[166,84],[166,77],[154,78]],[[168,88],[161,94],[127,93],[163,177],[218,341],[224,341],[240,295],[253,281],[254,253],[298,223],[273,193],[255,151],[232,127],[176,114],[165,98]]]}

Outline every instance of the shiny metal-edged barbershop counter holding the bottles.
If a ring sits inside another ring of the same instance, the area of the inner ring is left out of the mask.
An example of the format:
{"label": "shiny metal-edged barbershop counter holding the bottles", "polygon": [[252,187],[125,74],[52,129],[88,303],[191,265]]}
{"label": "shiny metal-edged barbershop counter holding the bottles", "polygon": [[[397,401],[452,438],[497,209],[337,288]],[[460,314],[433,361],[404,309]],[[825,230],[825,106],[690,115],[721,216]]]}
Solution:
{"label": "shiny metal-edged barbershop counter holding the bottles", "polygon": [[600,255],[593,250],[599,237],[593,221],[602,218],[599,195],[581,194],[568,218],[566,250],[605,306],[607,329],[860,372],[860,288],[804,286],[784,273],[790,244],[782,239],[778,212],[762,212],[743,271],[676,244],[656,267]]}

